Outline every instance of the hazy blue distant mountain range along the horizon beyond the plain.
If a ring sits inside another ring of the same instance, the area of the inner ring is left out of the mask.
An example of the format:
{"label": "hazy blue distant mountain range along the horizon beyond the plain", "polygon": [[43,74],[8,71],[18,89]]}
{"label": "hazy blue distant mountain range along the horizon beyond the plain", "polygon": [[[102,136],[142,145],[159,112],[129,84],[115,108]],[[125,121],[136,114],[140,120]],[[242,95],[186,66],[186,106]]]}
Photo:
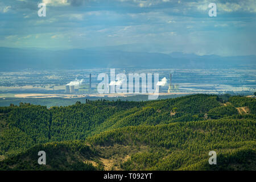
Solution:
{"label": "hazy blue distant mountain range along the horizon beyond the plain", "polygon": [[0,47],[0,71],[87,68],[229,68],[256,64],[256,56],[199,56],[173,52],[130,52],[110,48],[68,50]]}

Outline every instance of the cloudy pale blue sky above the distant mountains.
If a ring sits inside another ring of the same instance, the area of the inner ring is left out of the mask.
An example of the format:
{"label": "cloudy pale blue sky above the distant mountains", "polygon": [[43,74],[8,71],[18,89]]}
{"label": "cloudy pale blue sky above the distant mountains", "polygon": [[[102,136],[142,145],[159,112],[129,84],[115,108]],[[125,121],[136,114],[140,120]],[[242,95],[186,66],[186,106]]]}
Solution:
{"label": "cloudy pale blue sky above the distant mountains", "polygon": [[0,1],[0,47],[255,55],[255,32],[255,0]]}

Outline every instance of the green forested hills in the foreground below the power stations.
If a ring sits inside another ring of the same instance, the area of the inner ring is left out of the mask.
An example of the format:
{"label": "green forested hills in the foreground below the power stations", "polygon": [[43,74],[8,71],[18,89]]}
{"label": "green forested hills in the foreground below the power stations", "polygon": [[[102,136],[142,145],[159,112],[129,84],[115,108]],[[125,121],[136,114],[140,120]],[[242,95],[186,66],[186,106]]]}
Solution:
{"label": "green forested hills in the foreground below the power stations", "polygon": [[255,131],[244,96],[20,102],[0,107],[0,170],[256,170]]}

